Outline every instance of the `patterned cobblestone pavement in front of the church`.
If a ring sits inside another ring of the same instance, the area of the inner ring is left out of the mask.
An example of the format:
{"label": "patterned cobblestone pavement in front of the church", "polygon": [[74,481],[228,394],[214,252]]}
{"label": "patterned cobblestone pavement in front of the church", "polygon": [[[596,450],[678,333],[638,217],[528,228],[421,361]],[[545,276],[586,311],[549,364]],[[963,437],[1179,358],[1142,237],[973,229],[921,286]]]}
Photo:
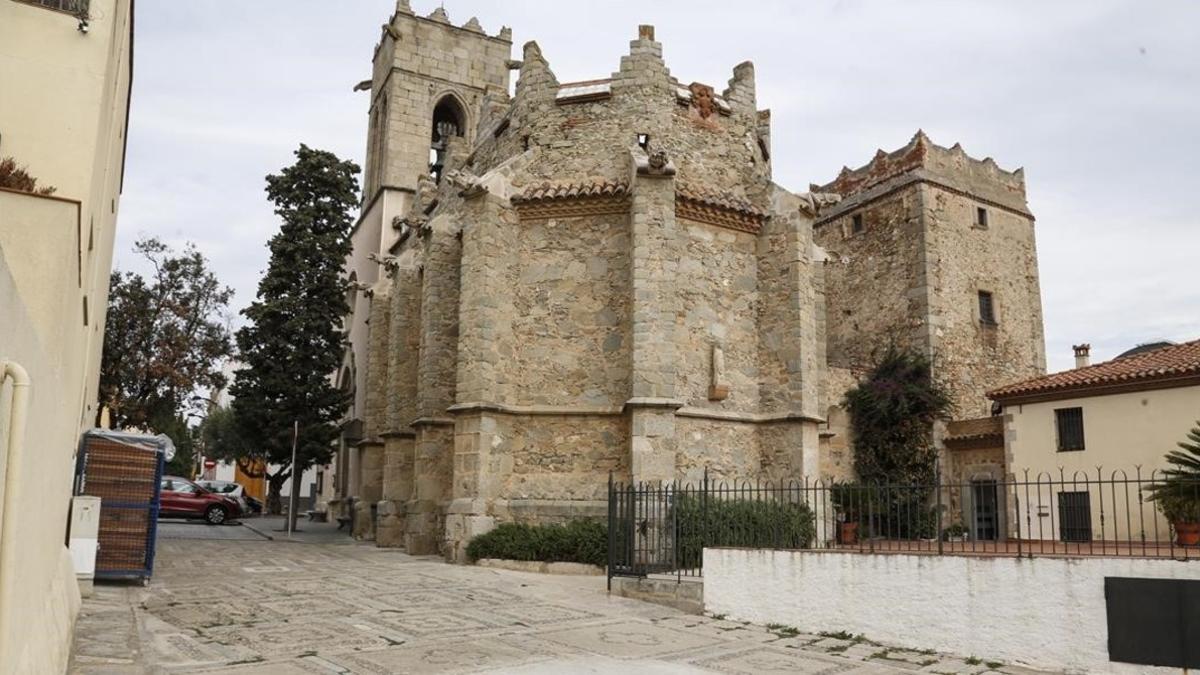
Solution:
{"label": "patterned cobblestone pavement in front of the church", "polygon": [[602,577],[451,566],[353,543],[168,538],[160,542],[149,586],[97,585],[96,596],[84,601],[71,671],[858,675],[996,669],[1020,671],[850,635],[804,635],[686,615],[610,597]]}

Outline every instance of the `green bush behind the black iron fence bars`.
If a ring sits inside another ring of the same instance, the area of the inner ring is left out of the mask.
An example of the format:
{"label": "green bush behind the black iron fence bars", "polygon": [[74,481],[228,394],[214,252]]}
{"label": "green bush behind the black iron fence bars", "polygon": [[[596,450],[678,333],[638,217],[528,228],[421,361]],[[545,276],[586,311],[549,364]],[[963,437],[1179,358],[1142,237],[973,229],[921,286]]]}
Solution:
{"label": "green bush behind the black iron fence bars", "polygon": [[700,567],[704,546],[806,549],[816,519],[797,502],[706,500],[684,495],[676,502],[679,522],[678,567]]}

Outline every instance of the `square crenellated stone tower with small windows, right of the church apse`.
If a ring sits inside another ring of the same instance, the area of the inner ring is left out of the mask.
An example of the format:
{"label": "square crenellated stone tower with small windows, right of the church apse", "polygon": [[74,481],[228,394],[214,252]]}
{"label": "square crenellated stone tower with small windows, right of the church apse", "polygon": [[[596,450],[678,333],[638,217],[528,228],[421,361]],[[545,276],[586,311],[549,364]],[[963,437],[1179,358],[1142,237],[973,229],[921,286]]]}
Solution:
{"label": "square crenellated stone tower with small windows, right of the church apse", "polygon": [[918,131],[812,189],[842,196],[814,223],[828,257],[830,365],[865,368],[889,342],[928,353],[958,418],[990,414],[988,389],[1045,371],[1022,169]]}

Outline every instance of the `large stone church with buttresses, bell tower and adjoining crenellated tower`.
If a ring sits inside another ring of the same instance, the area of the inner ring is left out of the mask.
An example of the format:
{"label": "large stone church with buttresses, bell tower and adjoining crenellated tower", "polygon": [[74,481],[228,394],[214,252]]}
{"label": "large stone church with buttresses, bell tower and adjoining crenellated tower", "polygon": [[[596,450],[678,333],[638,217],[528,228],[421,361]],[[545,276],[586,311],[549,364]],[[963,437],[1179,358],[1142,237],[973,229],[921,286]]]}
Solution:
{"label": "large stone church with buttresses, bell tower and adjoining crenellated tower", "polygon": [[954,392],[943,461],[961,436],[1003,470],[984,392],[1045,370],[1020,169],[918,132],[776,185],[754,65],[679,79],[653,26],[559,82],[535,42],[400,0],[359,89],[330,480],[358,536],[462,560],[497,522],[602,516],[610,474],[848,477],[839,404],[889,342]]}

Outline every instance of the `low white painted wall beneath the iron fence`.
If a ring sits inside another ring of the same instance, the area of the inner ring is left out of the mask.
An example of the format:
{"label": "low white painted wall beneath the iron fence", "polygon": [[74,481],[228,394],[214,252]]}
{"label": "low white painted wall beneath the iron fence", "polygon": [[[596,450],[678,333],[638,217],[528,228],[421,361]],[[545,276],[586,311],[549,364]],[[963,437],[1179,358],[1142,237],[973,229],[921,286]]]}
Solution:
{"label": "low white painted wall beneath the iron fence", "polygon": [[1200,562],[704,549],[704,610],[1036,668],[1108,659],[1105,577],[1200,579]]}

